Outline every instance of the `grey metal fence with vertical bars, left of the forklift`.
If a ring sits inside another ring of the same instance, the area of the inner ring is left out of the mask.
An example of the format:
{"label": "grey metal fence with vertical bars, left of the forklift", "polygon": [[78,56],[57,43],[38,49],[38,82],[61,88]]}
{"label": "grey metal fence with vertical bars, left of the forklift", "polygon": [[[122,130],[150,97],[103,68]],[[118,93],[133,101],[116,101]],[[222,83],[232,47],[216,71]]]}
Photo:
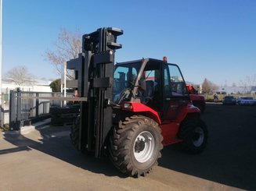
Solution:
{"label": "grey metal fence with vertical bars, left of the forklift", "polygon": [[[60,92],[31,92],[21,91],[19,88],[11,90],[9,99],[9,128],[11,130],[19,130],[20,126],[30,125],[31,122],[49,118],[50,107],[61,106],[63,101],[38,99],[36,97],[61,96]],[[73,94],[67,94],[67,96],[73,97]]]}

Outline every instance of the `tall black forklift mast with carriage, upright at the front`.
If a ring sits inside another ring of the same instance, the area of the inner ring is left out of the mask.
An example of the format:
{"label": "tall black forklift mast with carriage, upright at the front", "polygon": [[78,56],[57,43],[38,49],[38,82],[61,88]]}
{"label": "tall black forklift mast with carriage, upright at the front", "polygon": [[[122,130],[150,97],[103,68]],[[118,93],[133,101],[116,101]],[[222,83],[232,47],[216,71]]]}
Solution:
{"label": "tall black forklift mast with carriage, upright at the front", "polygon": [[[99,28],[82,37],[82,53],[67,62],[67,69],[75,70],[72,87],[77,87],[81,102],[78,149],[95,152],[100,157],[103,143],[112,127],[114,53],[121,48],[117,36],[123,30]],[[75,84],[75,85],[74,85]]]}

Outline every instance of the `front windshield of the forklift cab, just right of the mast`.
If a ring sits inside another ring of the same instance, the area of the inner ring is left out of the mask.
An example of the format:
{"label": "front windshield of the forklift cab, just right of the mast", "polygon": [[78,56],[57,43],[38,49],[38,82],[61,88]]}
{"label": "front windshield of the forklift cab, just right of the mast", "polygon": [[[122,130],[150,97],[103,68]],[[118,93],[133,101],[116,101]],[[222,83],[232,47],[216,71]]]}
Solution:
{"label": "front windshield of the forklift cab, just right of the mast", "polygon": [[129,62],[116,66],[113,84],[114,103],[120,104],[120,101],[129,97],[141,65],[142,62]]}

